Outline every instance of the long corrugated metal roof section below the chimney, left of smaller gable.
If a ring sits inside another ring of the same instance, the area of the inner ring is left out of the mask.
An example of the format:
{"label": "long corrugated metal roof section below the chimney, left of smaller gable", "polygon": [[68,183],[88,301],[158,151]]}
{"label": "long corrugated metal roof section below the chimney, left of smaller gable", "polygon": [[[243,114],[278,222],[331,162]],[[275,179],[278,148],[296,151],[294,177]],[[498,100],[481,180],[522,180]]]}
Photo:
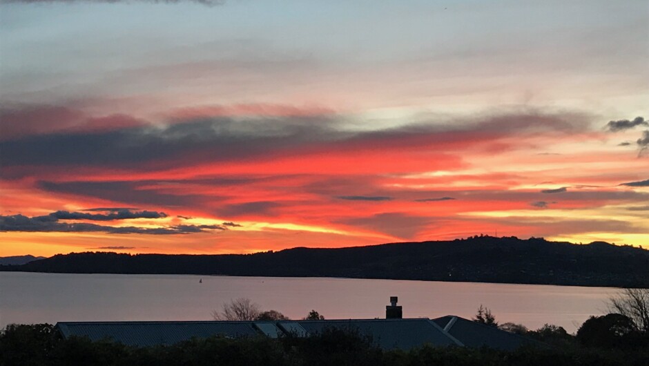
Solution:
{"label": "long corrugated metal roof section below the chimney, left of smaller gable", "polygon": [[59,322],[57,328],[64,336],[87,336],[90,340],[112,339],[125,345],[146,347],[171,345],[193,337],[246,337],[282,335],[309,336],[327,328],[350,329],[368,336],[384,349],[410,349],[431,344],[436,346],[462,345],[435,322],[418,319],[367,320],[282,320],[253,321],[196,321],[196,322]]}

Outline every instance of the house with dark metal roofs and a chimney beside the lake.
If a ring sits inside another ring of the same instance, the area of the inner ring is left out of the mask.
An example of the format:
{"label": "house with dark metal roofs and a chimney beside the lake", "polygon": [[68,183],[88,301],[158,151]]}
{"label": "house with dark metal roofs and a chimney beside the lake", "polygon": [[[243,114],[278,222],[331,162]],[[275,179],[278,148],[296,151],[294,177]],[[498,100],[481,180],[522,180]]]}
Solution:
{"label": "house with dark metal roofs and a chimney beside the lake", "polygon": [[433,320],[404,319],[396,300],[396,297],[391,298],[391,305],[386,307],[385,319],[58,322],[56,328],[64,338],[80,336],[90,340],[110,339],[138,347],[172,345],[195,337],[210,336],[307,337],[320,334],[327,328],[358,332],[360,336],[368,337],[382,349],[411,349],[423,345],[515,349],[522,345],[540,345],[534,340],[457,316],[444,316]]}

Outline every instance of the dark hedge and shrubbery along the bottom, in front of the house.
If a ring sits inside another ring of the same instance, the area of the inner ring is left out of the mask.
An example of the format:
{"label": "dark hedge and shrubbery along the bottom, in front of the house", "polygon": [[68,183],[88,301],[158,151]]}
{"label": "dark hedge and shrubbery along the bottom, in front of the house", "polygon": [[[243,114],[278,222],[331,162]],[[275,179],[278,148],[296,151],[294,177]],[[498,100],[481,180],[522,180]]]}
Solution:
{"label": "dark hedge and shrubbery along the bottom, in front of the house", "polygon": [[552,340],[552,331],[545,333],[546,341],[560,345],[516,351],[429,346],[382,350],[358,334],[330,329],[309,338],[215,336],[138,348],[110,340],[66,340],[51,325],[10,325],[0,333],[0,365],[649,365],[646,339],[632,345],[593,345],[583,343],[579,334]]}

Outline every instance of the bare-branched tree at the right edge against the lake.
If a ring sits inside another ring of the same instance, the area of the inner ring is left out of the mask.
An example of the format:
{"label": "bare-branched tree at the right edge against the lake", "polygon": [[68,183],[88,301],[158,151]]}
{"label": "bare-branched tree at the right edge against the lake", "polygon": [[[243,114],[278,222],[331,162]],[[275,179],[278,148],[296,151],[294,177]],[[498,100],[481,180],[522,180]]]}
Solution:
{"label": "bare-branched tree at the right edge against the lake", "polygon": [[609,311],[630,318],[639,331],[649,334],[649,289],[623,289],[610,299]]}

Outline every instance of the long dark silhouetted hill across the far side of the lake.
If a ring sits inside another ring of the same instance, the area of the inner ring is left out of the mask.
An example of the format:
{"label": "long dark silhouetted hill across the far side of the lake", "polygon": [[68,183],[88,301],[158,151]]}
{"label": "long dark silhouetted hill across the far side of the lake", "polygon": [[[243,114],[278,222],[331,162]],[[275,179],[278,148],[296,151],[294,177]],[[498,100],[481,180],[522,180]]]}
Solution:
{"label": "long dark silhouetted hill across the far side of the lake", "polygon": [[341,249],[293,248],[214,256],[70,253],[0,271],[348,277],[649,287],[649,251],[542,238],[403,242]]}

